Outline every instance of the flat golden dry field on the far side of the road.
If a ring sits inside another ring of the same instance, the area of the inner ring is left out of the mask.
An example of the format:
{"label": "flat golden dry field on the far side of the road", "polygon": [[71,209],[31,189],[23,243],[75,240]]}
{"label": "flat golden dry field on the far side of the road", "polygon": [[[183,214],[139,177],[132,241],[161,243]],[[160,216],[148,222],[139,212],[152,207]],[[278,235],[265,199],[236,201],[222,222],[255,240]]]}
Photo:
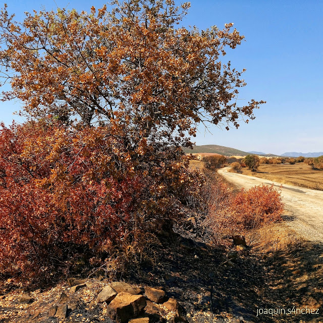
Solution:
{"label": "flat golden dry field on the far side of the road", "polygon": [[283,184],[323,190],[323,171],[312,170],[311,166],[304,163],[297,163],[295,165],[261,164],[258,172],[251,172],[243,168],[242,173]]}

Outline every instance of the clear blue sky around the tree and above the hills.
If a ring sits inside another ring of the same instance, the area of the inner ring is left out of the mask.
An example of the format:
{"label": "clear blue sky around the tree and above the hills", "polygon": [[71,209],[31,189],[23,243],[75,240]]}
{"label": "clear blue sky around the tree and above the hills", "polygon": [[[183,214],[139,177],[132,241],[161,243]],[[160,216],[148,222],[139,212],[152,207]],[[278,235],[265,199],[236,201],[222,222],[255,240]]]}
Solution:
{"label": "clear blue sky around the tree and above the hills", "polygon": [[[10,0],[9,12],[22,20],[33,9],[57,6],[89,11],[92,0]],[[266,100],[256,119],[238,130],[217,127],[200,133],[196,144],[281,154],[323,151],[323,2],[320,0],[192,0],[185,26],[222,28],[233,22],[245,40],[228,51],[232,66],[246,68],[240,98]],[[241,100],[243,102],[243,100]],[[0,102],[0,120],[11,123],[19,102]]]}

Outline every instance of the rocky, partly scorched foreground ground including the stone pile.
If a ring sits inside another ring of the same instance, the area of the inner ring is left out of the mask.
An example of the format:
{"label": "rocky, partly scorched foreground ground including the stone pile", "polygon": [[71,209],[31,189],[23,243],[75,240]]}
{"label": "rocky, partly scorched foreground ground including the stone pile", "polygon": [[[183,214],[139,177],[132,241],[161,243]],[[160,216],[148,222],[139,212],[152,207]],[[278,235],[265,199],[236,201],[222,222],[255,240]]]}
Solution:
{"label": "rocky, partly scorched foreground ground including the stone pile", "polygon": [[[132,268],[123,276],[137,298],[129,287],[122,291],[103,277],[79,277],[84,280],[31,291],[5,280],[0,287],[0,322],[123,323],[136,317],[146,317],[137,323],[323,322],[322,245],[303,241],[282,223],[250,232],[247,247],[233,239],[226,248],[213,245],[198,238],[191,223],[175,231],[160,237],[154,265]],[[158,290],[160,299],[152,298],[151,288]],[[100,297],[102,290],[114,300]],[[287,311],[293,306],[295,312],[289,315],[259,314],[259,309]],[[305,306],[319,314],[296,313]],[[128,314],[120,314],[121,307]]]}

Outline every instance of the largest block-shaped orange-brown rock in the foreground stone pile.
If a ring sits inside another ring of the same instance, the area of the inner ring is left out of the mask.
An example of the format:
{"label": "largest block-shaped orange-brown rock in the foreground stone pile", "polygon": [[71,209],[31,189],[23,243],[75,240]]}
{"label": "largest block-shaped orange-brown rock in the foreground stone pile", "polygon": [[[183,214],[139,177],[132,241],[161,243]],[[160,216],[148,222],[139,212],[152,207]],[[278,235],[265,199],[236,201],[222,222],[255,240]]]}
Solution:
{"label": "largest block-shaped orange-brown rock in the foreground stone pile", "polygon": [[121,292],[107,306],[106,314],[117,323],[125,323],[138,316],[145,306],[144,296]]}

